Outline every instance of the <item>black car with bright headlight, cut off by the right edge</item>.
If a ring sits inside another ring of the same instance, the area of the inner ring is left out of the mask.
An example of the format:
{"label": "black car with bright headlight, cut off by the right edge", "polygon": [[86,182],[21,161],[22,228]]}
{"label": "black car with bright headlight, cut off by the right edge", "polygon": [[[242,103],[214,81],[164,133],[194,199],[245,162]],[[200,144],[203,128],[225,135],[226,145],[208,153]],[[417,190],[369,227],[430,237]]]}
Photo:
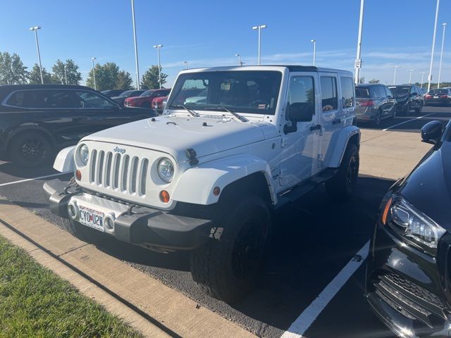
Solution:
{"label": "black car with bright headlight, cut off by the right edge", "polygon": [[366,268],[366,298],[400,337],[450,337],[451,122],[421,130],[433,144],[383,198]]}

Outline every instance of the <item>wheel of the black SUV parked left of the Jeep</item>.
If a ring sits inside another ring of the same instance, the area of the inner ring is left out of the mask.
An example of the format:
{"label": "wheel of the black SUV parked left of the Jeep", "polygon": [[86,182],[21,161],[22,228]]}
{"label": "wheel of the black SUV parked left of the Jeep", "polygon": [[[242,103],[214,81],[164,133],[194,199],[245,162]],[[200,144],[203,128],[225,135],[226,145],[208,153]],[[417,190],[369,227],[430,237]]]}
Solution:
{"label": "wheel of the black SUV parked left of the Jeep", "polygon": [[11,140],[9,156],[15,163],[25,167],[36,167],[50,161],[50,142],[37,132],[25,132]]}

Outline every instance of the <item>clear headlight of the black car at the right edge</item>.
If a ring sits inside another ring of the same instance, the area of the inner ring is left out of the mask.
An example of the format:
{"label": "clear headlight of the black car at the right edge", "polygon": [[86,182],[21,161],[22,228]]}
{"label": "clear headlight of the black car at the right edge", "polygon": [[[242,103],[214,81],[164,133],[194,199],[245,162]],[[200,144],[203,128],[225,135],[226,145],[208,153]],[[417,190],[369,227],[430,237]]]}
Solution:
{"label": "clear headlight of the black car at the right edge", "polygon": [[391,206],[385,206],[385,222],[415,246],[435,255],[446,230],[401,196],[393,197],[388,204]]}

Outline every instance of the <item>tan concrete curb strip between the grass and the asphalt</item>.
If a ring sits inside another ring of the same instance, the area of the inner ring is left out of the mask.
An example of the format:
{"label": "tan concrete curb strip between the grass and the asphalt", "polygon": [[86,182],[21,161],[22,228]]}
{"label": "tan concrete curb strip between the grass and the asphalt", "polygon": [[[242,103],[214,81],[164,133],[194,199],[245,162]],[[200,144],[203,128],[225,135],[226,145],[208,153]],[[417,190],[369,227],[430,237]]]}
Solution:
{"label": "tan concrete curb strip between the grass and the asphalt", "polygon": [[147,337],[255,337],[3,196],[0,234]]}

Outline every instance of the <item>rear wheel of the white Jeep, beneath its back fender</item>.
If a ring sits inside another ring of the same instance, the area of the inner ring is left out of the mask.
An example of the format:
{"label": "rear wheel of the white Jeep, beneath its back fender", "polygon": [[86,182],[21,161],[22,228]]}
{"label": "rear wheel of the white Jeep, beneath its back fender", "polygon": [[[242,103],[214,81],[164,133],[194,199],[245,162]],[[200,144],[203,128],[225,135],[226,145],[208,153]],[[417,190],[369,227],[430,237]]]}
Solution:
{"label": "rear wheel of the white Jeep, beneath its back fender", "polygon": [[338,199],[350,199],[354,194],[359,176],[359,149],[348,144],[338,173],[326,182],[328,194]]}

